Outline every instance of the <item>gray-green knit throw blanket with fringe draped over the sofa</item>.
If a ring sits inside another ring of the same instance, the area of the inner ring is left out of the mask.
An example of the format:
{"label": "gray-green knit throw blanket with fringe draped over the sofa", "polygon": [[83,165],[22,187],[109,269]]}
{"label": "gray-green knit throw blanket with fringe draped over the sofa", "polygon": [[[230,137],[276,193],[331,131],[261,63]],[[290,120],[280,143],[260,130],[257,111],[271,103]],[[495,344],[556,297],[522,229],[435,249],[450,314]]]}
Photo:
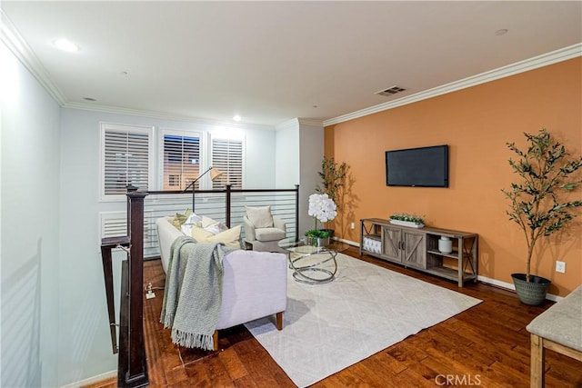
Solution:
{"label": "gray-green knit throw blanket with fringe draped over the sofa", "polygon": [[160,322],[172,327],[172,342],[214,349],[212,334],[222,303],[222,259],[233,249],[179,236],[172,243]]}

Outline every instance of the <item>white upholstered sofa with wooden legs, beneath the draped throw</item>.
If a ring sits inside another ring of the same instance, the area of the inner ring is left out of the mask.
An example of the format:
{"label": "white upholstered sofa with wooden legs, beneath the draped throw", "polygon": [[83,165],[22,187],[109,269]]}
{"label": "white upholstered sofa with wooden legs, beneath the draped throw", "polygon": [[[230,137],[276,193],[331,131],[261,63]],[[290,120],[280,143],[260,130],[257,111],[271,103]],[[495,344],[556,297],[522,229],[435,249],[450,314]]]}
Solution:
{"label": "white upholstered sofa with wooden legs, beneath the draped throw", "polygon": [[[156,220],[162,266],[166,273],[170,247],[180,235],[171,217]],[[287,261],[285,254],[236,250],[223,259],[222,305],[216,331],[276,314],[276,327],[283,328],[287,302]],[[182,303],[180,301],[179,303]],[[217,332],[214,334],[218,349]]]}

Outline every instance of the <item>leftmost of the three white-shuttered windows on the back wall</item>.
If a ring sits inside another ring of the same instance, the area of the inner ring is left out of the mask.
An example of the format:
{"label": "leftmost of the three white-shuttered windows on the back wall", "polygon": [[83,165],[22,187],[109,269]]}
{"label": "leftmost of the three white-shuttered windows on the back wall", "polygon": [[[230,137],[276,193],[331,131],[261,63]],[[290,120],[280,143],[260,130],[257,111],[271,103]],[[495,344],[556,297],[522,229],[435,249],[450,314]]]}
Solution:
{"label": "leftmost of the three white-shuttered windows on the back wall", "polygon": [[101,196],[116,199],[132,184],[148,190],[153,164],[151,161],[152,127],[101,124]]}

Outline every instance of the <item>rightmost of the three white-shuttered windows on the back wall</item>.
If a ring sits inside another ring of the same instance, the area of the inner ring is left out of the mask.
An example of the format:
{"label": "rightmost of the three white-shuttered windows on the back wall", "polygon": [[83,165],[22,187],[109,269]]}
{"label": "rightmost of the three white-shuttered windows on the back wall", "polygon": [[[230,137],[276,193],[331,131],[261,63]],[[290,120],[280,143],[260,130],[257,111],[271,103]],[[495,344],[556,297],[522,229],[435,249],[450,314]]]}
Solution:
{"label": "rightmost of the three white-shuttered windows on the back wall", "polygon": [[212,166],[223,173],[212,183],[213,189],[223,189],[225,184],[243,188],[243,149],[240,139],[212,139]]}

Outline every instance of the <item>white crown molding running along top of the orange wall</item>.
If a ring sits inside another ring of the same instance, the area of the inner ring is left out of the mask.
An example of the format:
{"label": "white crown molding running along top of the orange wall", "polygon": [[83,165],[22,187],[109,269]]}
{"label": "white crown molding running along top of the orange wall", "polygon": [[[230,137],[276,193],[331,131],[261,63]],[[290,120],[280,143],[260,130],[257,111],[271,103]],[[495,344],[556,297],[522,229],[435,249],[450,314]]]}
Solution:
{"label": "white crown molding running along top of the orange wall", "polygon": [[487,82],[505,78],[510,75],[524,73],[529,70],[537,69],[538,67],[557,64],[558,62],[567,61],[568,59],[576,58],[577,56],[581,55],[582,43],[570,45],[547,54],[534,56],[533,58],[529,58],[512,65],[506,65],[494,70],[487,71],[485,73],[481,73],[479,75],[463,78],[450,84],[437,86],[432,89],[416,93],[415,95],[408,95],[406,97],[399,98],[384,104],[370,106],[351,114],[343,114],[335,118],[324,120],[323,123],[324,126],[343,123],[348,120],[366,116],[368,114],[376,114],[378,112],[383,112],[405,104],[412,104],[416,103],[417,101],[436,97],[437,95],[446,95],[447,93],[456,92],[457,90],[466,89],[467,87],[485,84]]}

